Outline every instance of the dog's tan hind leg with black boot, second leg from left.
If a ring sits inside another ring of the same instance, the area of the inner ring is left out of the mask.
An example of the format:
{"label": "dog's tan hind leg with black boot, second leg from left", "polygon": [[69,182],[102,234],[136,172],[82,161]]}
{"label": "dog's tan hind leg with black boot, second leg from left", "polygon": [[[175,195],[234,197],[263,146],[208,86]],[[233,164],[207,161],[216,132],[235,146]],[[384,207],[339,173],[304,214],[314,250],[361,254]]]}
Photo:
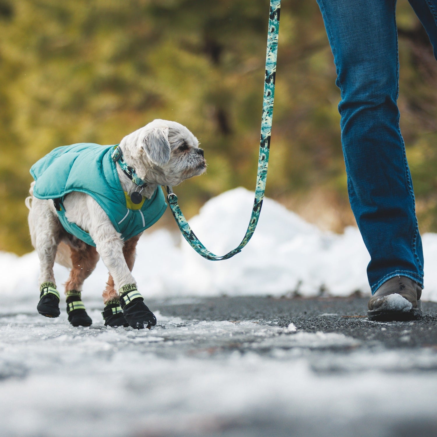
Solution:
{"label": "dog's tan hind leg with black boot, second leg from left", "polygon": [[73,267],[65,284],[68,321],[73,326],[91,326],[93,322],[85,310],[85,305],[81,300],[81,293],[83,281],[96,268],[99,254],[95,247],[85,243],[80,248],[70,246],[70,249]]}

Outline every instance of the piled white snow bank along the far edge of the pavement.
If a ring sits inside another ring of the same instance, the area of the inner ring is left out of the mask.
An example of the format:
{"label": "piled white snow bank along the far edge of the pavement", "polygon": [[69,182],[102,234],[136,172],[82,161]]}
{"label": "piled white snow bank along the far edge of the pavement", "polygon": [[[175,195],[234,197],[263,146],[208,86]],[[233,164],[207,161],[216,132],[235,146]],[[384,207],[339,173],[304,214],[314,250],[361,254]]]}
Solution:
{"label": "piled white snow bank along the far edge of the pavement", "polygon": [[[212,252],[222,255],[243,238],[253,193],[244,188],[209,200],[190,220],[195,234]],[[143,295],[284,295],[347,296],[356,290],[370,293],[366,266],[370,260],[360,233],[349,227],[342,235],[322,232],[277,202],[266,198],[258,228],[242,253],[230,260],[207,261],[180,236],[175,246],[170,232],[160,229],[143,236],[138,245],[134,276]],[[424,300],[437,301],[437,234],[425,234]],[[38,257],[0,253],[2,294],[34,294]],[[66,281],[65,268],[55,267],[58,284]],[[107,279],[99,262],[84,291],[97,296]]]}

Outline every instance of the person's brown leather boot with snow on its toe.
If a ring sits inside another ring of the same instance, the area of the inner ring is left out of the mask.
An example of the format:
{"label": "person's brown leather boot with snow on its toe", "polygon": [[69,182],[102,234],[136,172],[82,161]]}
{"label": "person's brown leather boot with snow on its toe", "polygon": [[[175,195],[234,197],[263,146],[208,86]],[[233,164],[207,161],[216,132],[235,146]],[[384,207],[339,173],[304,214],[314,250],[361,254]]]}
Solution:
{"label": "person's brown leather boot with snow on its toe", "polygon": [[412,320],[422,316],[422,288],[406,276],[395,276],[384,282],[370,298],[369,320]]}

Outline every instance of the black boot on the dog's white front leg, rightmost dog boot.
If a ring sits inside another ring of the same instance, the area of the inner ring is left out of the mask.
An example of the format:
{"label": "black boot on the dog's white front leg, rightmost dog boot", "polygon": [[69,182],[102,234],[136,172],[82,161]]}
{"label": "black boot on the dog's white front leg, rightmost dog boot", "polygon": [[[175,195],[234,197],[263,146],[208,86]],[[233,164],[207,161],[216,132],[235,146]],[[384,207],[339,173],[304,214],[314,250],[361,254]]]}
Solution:
{"label": "black boot on the dog's white front leg, rightmost dog boot", "polygon": [[156,317],[143,302],[135,284],[120,288],[120,306],[129,326],[135,329],[151,328],[156,325]]}

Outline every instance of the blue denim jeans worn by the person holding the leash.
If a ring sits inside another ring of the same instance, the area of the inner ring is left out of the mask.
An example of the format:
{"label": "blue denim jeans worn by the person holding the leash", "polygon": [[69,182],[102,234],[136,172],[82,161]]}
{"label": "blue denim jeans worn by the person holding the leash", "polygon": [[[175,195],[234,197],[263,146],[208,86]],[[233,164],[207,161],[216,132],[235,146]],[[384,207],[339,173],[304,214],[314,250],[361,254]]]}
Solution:
{"label": "blue denim jeans worn by the person holding the leash", "polygon": [[[409,0],[437,59],[437,0]],[[399,129],[396,0],[317,0],[341,90],[350,205],[370,253],[372,294],[407,276],[423,287],[413,184]]]}

